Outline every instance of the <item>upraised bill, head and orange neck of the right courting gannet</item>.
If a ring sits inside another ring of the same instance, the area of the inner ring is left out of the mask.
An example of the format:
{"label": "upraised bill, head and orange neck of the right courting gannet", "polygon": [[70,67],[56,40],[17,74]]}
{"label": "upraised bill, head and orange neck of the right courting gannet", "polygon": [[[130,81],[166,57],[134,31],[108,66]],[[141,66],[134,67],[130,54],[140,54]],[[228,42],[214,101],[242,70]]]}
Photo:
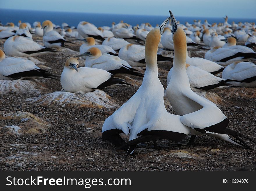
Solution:
{"label": "upraised bill, head and orange neck of the right courting gannet", "polygon": [[173,13],[171,11],[169,12],[172,23],[174,57],[178,59],[181,64],[185,64],[187,51],[186,34],[177,23]]}

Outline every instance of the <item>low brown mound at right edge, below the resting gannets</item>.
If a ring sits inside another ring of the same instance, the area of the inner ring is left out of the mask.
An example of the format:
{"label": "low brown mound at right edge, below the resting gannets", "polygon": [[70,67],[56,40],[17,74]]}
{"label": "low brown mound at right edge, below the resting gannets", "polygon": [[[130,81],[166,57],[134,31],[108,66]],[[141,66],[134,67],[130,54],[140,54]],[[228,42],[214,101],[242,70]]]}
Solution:
{"label": "low brown mound at right edge, below the resting gannets", "polygon": [[225,88],[223,90],[220,90],[218,93],[220,93],[223,97],[228,97],[228,98],[245,98],[245,99],[256,98],[256,88],[245,88],[245,87]]}

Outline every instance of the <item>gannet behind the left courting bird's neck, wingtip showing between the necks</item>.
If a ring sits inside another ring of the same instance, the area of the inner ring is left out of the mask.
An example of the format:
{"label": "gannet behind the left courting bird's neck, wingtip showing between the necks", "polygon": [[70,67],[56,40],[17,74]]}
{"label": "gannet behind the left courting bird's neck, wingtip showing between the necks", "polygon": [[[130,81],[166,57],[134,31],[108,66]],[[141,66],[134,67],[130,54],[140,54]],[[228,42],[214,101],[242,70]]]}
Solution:
{"label": "gannet behind the left courting bird's neck, wingtip showing between the necks", "polygon": [[[137,44],[127,44],[120,48],[118,56],[127,61],[131,66],[145,66],[145,46]],[[157,54],[157,61],[170,61],[169,57]]]}

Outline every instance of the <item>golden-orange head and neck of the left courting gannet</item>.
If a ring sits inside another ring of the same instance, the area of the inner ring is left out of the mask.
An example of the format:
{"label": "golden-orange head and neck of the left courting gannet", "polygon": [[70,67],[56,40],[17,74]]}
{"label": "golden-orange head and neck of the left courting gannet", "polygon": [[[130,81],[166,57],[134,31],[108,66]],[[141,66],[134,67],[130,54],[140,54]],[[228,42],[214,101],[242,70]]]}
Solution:
{"label": "golden-orange head and neck of the left courting gannet", "polygon": [[157,74],[157,50],[160,42],[160,28],[152,29],[146,37],[145,41],[145,61],[146,61],[146,72],[156,72]]}

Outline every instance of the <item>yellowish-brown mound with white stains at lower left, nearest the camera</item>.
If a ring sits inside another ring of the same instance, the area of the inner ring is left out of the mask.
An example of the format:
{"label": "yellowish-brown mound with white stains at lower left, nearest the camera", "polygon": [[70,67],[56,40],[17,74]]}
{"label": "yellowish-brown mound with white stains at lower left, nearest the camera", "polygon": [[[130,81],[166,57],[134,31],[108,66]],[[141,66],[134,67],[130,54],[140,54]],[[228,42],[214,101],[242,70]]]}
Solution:
{"label": "yellowish-brown mound with white stains at lower left, nearest the camera", "polygon": [[50,126],[49,123],[29,112],[0,111],[0,119],[15,120],[15,125],[0,126],[0,132],[7,134],[40,134],[47,132]]}

